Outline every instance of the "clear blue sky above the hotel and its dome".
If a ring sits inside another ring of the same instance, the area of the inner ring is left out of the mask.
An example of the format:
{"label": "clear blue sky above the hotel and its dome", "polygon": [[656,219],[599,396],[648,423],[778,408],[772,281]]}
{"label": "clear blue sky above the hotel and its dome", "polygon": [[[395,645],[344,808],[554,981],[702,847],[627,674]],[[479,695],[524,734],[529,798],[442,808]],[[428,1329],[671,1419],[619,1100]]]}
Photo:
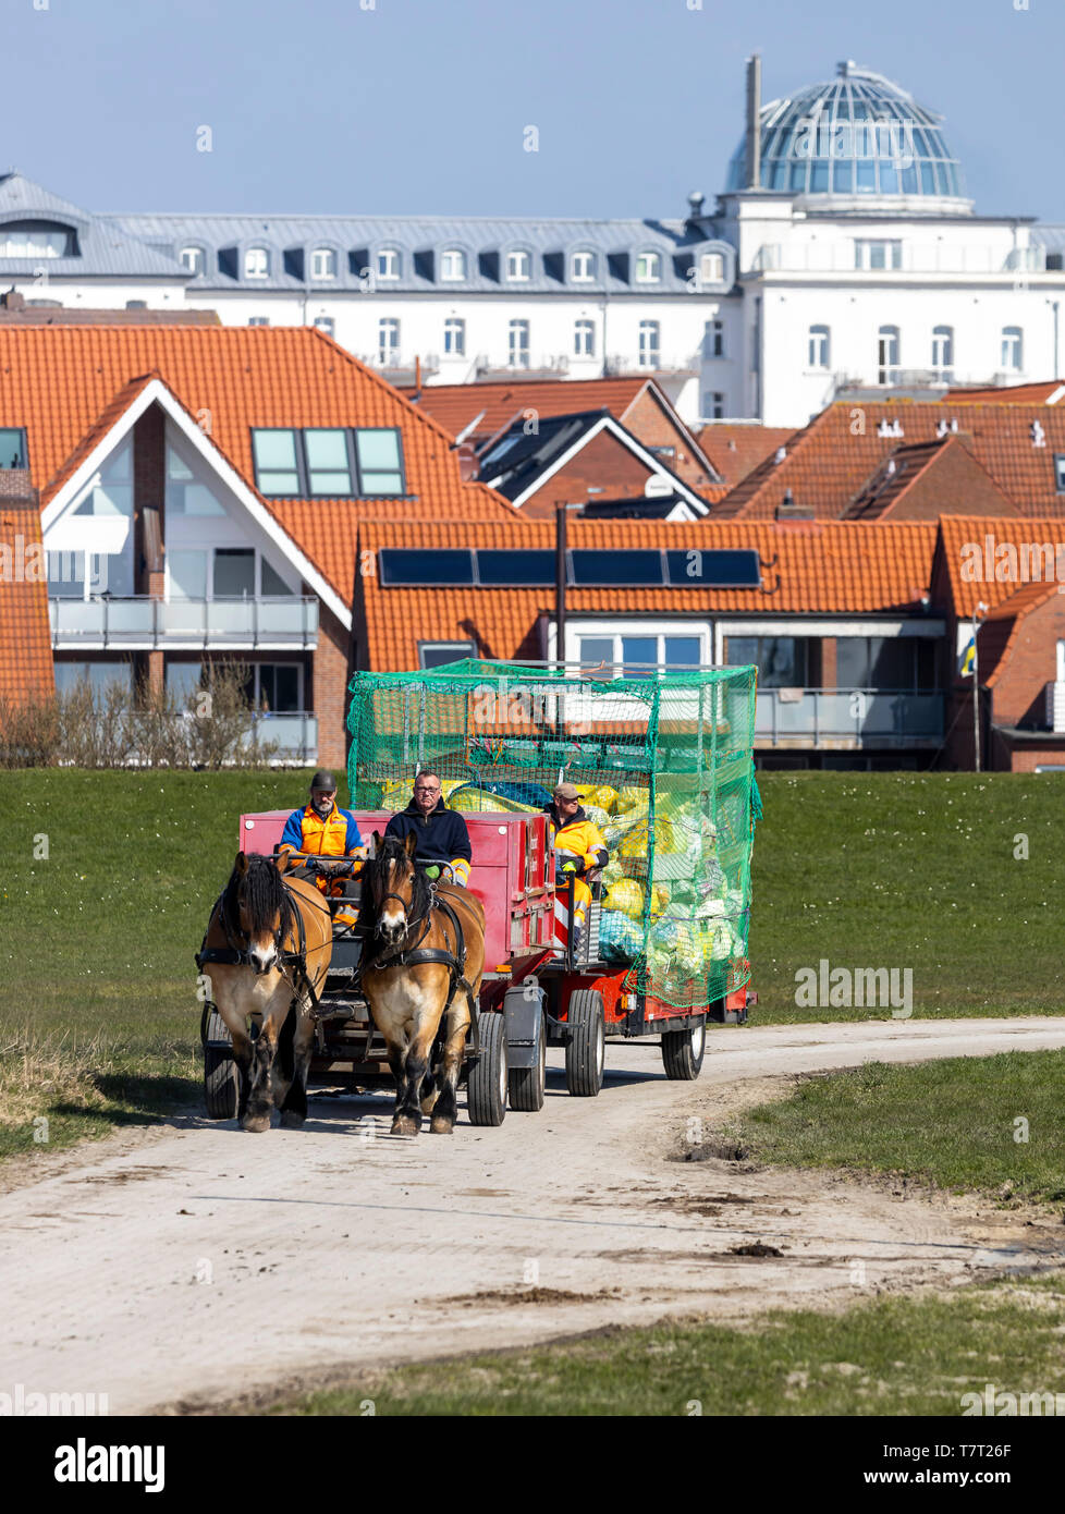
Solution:
{"label": "clear blue sky above the hotel and its dome", "polygon": [[1065,6],[1023,3],[3,0],[0,168],[94,210],[673,217],[723,186],[758,50],[767,100],[896,79],[977,212],[1065,221]]}

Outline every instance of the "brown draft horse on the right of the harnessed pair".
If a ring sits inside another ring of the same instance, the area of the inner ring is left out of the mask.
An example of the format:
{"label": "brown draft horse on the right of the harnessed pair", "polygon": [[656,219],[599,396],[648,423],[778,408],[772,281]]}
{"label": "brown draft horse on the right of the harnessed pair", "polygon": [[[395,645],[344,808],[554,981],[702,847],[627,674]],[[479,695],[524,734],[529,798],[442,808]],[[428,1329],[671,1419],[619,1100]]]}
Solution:
{"label": "brown draft horse on the right of the harnessed pair", "polygon": [[[430,1131],[451,1136],[470,1023],[466,989],[477,1002],[484,972],[484,905],[455,884],[431,887],[415,868],[416,845],[415,836],[383,840],[374,831],[374,855],[362,872],[362,990],[396,1079],[392,1134],[418,1136],[422,1114],[430,1114]],[[442,901],[458,919],[463,940],[455,939],[454,917]],[[448,960],[427,961],[433,954]]]}

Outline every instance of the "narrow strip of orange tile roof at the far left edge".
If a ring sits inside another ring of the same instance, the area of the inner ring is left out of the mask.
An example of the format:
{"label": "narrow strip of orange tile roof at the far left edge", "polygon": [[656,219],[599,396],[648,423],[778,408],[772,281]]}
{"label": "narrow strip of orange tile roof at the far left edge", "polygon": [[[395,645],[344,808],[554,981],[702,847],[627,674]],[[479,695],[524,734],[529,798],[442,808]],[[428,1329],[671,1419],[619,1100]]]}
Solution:
{"label": "narrow strip of orange tile roof at the far left edge", "polygon": [[39,547],[38,501],[0,498],[0,699],[12,704],[47,698],[56,687]]}

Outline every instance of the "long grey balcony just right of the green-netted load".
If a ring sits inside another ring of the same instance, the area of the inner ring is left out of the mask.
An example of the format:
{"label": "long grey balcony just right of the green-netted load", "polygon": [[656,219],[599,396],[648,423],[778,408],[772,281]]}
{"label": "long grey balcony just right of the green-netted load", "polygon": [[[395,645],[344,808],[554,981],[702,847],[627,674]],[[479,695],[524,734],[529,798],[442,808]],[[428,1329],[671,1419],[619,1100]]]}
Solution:
{"label": "long grey balcony just right of the green-netted load", "polygon": [[905,748],[942,740],[942,693],[891,689],[759,689],[755,745]]}

